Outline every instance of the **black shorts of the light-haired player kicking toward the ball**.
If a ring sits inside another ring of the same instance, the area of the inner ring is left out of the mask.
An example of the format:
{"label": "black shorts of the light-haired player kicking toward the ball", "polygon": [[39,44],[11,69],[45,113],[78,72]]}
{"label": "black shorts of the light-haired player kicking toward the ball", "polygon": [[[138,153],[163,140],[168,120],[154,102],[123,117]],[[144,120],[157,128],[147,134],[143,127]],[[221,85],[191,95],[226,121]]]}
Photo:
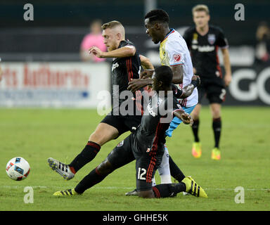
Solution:
{"label": "black shorts of the light-haired player kicking toward the ball", "polygon": [[101,122],[115,127],[120,136],[127,131],[135,131],[141,123],[141,117],[141,115],[113,115],[112,111]]}

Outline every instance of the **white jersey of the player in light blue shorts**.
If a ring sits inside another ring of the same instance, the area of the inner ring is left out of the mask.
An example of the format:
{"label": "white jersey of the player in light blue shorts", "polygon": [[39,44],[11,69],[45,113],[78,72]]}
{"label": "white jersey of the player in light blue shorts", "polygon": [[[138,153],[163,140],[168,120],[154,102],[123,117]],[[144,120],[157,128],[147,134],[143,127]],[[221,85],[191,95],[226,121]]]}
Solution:
{"label": "white jersey of the player in light blue shorts", "polygon": [[[167,34],[165,39],[160,43],[160,63],[161,65],[169,65],[171,67],[174,65],[183,65],[183,84],[179,86],[183,88],[191,84],[193,77],[191,54],[189,53],[184,38],[174,29],[171,29],[169,34]],[[180,99],[179,103],[184,107],[196,105],[198,103],[197,88],[194,89],[193,93],[188,98]]]}

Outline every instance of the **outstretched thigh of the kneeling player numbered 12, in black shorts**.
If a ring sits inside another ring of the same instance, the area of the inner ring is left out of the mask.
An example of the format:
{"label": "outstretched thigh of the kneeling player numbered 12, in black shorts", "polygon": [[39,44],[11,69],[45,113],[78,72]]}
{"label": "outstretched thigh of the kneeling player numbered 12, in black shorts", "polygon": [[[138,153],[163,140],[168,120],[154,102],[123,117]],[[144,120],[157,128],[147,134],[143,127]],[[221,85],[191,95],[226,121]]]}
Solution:
{"label": "outstretched thigh of the kneeling player numbered 12, in black shorts", "polygon": [[113,166],[113,169],[118,169],[129,162],[135,160],[132,153],[132,141],[131,135],[126,139],[120,141],[117,146],[109,153],[105,161],[107,160]]}

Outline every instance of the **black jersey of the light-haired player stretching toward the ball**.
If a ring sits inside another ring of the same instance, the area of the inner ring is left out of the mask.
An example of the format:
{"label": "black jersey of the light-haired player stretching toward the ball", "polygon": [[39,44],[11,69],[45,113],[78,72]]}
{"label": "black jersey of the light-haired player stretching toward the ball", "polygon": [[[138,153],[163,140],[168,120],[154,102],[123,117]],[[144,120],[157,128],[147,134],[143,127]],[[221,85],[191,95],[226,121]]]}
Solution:
{"label": "black jersey of the light-haired player stretching toward the ball", "polygon": [[[134,46],[131,41],[121,41],[118,49],[124,46]],[[122,91],[127,91],[127,86],[131,79],[139,79],[141,61],[139,54],[136,52],[134,56],[126,58],[113,58],[112,65],[112,90],[113,99],[119,100],[119,105],[113,105],[118,107],[121,105],[124,99],[119,99]],[[136,98],[134,94],[134,98]]]}

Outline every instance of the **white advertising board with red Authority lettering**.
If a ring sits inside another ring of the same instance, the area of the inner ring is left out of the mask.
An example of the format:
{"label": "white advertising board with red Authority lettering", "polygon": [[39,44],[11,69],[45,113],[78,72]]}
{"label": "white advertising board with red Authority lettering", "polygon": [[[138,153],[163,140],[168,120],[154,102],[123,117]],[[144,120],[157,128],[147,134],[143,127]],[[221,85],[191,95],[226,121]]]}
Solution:
{"label": "white advertising board with red Authority lettering", "polygon": [[1,63],[1,107],[110,107],[108,63]]}

